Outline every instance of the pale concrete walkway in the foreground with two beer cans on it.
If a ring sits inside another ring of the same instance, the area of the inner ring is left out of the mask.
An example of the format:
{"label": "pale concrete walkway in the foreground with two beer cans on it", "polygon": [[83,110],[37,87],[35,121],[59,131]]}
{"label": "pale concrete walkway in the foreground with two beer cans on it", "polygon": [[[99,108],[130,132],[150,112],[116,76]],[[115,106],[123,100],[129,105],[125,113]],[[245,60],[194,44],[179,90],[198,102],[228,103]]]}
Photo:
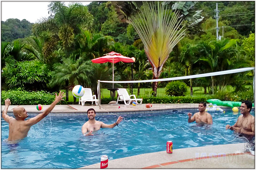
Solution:
{"label": "pale concrete walkway in the foreground with two beer cans on it", "polygon": [[[255,169],[255,156],[244,143],[174,149],[108,161],[109,169]],[[100,160],[99,160],[100,162]],[[81,169],[99,169],[100,163]]]}

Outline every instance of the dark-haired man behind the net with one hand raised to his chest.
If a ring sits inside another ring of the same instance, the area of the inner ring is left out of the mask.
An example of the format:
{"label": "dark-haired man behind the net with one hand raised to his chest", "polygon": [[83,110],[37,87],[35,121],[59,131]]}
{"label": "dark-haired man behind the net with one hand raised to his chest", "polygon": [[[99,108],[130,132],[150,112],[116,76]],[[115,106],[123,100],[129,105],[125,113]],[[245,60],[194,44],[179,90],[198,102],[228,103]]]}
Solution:
{"label": "dark-haired man behind the net with one hand raised to his chest", "polygon": [[[196,121],[198,124],[212,124],[212,116],[205,111],[206,103],[200,102],[198,105],[198,111],[192,117],[192,113],[188,113],[188,123]],[[192,117],[192,118],[191,118]]]}

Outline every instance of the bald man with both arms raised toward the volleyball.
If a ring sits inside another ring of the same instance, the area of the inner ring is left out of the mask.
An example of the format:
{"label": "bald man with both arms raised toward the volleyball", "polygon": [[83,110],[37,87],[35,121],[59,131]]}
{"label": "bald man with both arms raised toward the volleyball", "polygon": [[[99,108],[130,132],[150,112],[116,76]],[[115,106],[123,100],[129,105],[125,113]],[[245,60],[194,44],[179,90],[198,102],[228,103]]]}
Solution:
{"label": "bald man with both arms raised toward the volleyball", "polygon": [[9,123],[9,137],[7,141],[15,141],[23,139],[27,137],[28,131],[30,130],[31,126],[38,123],[44,117],[46,117],[50,111],[54,108],[54,106],[63,99],[64,92],[59,92],[59,95],[55,93],[55,100],[54,102],[48,107],[43,113],[38,114],[36,117],[31,119],[25,120],[28,117],[27,111],[22,106],[17,106],[13,109],[14,117],[10,117],[7,115],[8,107],[11,105],[10,99],[7,98],[5,100],[5,108],[2,112],[2,118]]}

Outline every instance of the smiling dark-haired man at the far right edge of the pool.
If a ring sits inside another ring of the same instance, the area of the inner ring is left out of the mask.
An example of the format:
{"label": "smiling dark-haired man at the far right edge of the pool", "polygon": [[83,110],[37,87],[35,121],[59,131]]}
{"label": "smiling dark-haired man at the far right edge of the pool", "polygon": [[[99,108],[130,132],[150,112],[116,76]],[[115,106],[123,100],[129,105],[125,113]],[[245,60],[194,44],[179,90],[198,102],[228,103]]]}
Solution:
{"label": "smiling dark-haired man at the far right edge of the pool", "polygon": [[226,125],[226,130],[234,130],[240,134],[255,136],[255,118],[250,114],[252,102],[245,100],[240,106],[240,115],[233,126]]}

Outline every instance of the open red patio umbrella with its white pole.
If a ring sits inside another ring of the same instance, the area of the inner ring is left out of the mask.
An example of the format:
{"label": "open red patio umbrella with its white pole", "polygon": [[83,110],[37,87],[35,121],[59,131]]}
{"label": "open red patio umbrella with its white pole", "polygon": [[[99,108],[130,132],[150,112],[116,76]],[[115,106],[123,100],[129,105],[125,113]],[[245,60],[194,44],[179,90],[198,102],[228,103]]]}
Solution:
{"label": "open red patio umbrella with its white pole", "polygon": [[[119,61],[122,61],[124,63],[133,63],[135,62],[135,58],[132,57],[132,58],[129,58],[129,57],[125,57],[123,55],[121,55],[120,53],[117,53],[117,52],[110,52],[110,53],[107,53],[105,54],[106,56],[103,56],[103,57],[99,57],[99,58],[95,58],[93,60],[91,60],[93,63],[106,63],[106,62],[111,62],[113,63],[112,64],[112,69],[113,69],[113,81],[114,81],[114,63],[117,63]],[[113,86],[114,88],[114,83],[113,83]]]}

